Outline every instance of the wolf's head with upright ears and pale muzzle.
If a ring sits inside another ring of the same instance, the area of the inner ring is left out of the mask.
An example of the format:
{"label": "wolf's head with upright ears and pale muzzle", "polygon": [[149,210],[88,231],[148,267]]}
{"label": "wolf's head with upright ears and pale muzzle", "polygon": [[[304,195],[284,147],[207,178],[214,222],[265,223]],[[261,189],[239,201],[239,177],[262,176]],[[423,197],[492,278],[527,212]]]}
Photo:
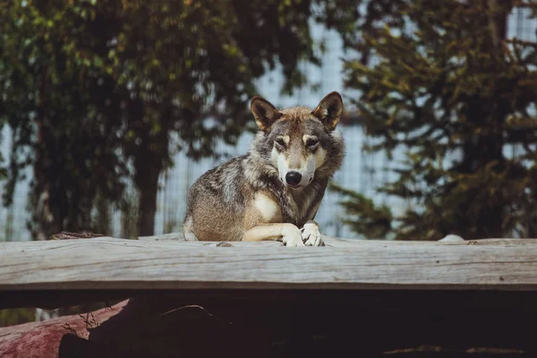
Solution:
{"label": "wolf's head with upright ears and pale muzzle", "polygon": [[286,186],[304,188],[316,171],[332,175],[341,165],[343,140],[336,126],[342,112],[343,101],[337,92],[322,98],[314,110],[277,110],[256,96],[251,99],[251,113],[261,132],[252,149],[277,168]]}

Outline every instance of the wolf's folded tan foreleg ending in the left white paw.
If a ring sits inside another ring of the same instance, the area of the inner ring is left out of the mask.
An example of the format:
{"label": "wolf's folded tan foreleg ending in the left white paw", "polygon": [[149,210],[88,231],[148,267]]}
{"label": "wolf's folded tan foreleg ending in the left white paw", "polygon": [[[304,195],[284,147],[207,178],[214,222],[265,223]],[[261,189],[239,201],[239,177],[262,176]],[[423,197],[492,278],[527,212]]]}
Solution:
{"label": "wolf's folded tan foreleg ending in the left white paw", "polygon": [[261,224],[253,226],[243,234],[243,241],[278,240],[286,246],[304,246],[298,227],[293,224]]}

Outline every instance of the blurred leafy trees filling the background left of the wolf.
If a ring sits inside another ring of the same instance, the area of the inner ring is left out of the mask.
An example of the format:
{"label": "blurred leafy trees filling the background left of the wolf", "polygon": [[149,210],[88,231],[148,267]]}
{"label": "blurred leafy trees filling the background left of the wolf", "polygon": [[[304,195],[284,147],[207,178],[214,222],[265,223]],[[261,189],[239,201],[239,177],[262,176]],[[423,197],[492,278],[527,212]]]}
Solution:
{"label": "blurred leafy trees filling the background left of the wolf", "polygon": [[[253,82],[276,64],[283,90],[303,85],[299,60],[319,61],[312,5],[0,0],[0,121],[14,141],[5,204],[30,166],[34,234],[93,230],[107,221],[93,215],[102,198],[120,205],[132,178],[138,234],[152,234],[176,150],[200,158],[236,141]],[[330,6],[318,4],[327,19]]]}

